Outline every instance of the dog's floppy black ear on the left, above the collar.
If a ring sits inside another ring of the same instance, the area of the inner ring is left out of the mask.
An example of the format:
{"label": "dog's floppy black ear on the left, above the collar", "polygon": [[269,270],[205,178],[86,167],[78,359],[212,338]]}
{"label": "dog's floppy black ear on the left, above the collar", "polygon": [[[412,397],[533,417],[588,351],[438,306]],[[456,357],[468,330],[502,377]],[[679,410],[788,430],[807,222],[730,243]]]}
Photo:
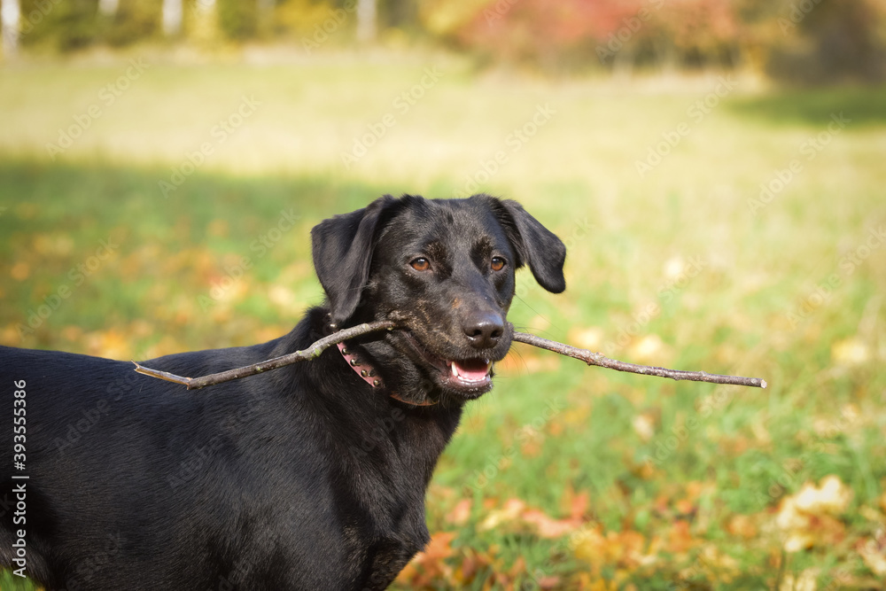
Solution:
{"label": "dog's floppy black ear on the left, above the collar", "polygon": [[377,198],[350,214],[331,217],[311,230],[314,268],[330,301],[333,323],[344,323],[360,303],[382,213],[397,199]]}

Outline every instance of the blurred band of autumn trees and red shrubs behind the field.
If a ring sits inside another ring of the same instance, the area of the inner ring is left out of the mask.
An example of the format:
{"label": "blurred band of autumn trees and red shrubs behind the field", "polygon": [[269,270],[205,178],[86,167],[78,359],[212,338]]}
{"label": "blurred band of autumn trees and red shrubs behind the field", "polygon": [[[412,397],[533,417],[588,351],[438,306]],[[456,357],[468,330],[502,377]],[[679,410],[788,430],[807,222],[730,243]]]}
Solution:
{"label": "blurred band of autumn trees and red shrubs behind the field", "polygon": [[[179,35],[313,49],[431,35],[549,72],[751,67],[784,82],[886,79],[886,0],[0,0],[4,55]],[[20,8],[20,11],[19,11]],[[307,45],[306,45],[307,43]]]}

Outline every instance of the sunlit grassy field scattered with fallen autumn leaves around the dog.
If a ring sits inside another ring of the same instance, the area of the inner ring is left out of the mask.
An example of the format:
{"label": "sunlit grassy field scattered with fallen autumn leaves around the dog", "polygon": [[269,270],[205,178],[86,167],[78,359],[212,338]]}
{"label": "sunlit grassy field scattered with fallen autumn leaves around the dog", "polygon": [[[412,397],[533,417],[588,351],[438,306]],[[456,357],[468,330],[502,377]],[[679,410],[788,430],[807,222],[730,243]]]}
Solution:
{"label": "sunlit grassy field scattered with fallen autumn leaves around the dog", "polygon": [[886,588],[886,89],[253,61],[0,70],[0,343],[260,342],[322,300],[323,218],[516,198],[569,247],[564,294],[521,273],[519,328],[770,386],[514,346],[397,588]]}

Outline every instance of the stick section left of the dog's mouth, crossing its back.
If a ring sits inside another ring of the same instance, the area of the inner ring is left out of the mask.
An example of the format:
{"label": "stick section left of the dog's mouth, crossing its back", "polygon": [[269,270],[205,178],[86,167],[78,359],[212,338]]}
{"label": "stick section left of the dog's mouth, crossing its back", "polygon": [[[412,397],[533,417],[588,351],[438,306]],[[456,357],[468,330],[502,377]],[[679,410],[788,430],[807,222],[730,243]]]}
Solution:
{"label": "stick section left of the dog's mouth, crossing its back", "polygon": [[221,371],[217,374],[210,374],[208,376],[203,377],[181,377],[176,376],[175,374],[168,373],[167,371],[159,371],[158,369],[146,368],[144,365],[136,363],[136,371],[140,374],[144,374],[145,376],[158,377],[159,379],[165,379],[167,382],[175,382],[175,384],[182,384],[188,386],[188,390],[199,390],[200,388],[206,387],[207,385],[221,384],[222,382],[229,382],[233,379],[240,379],[241,377],[254,376],[255,374],[259,374],[262,371],[269,371],[271,369],[282,368],[284,365],[291,365],[292,363],[297,362],[307,362],[311,359],[315,359],[319,357],[320,354],[323,353],[328,347],[333,345],[338,345],[338,343],[347,340],[348,338],[360,337],[368,332],[373,332],[375,330],[392,330],[395,324],[389,320],[379,320],[374,323],[364,323],[358,324],[357,326],[351,327],[349,329],[338,330],[338,332],[333,332],[328,337],[323,337],[320,340],[316,341],[313,345],[307,347],[304,351],[296,351],[295,353],[291,353],[288,355],[283,355],[281,357],[275,357],[274,359],[268,359],[266,362],[254,363],[253,365],[247,365],[243,368],[237,369],[228,369],[227,371]]}

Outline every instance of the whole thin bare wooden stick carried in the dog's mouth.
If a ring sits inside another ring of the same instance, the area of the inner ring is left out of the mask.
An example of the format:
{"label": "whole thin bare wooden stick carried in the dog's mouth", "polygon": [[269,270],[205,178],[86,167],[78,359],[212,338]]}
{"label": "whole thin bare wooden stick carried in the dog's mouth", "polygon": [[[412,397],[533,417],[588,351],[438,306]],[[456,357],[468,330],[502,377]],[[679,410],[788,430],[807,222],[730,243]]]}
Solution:
{"label": "whole thin bare wooden stick carried in the dog's mouth", "polygon": [[[222,382],[229,382],[230,380],[240,379],[241,377],[254,376],[263,371],[282,368],[284,365],[291,365],[296,362],[306,362],[319,357],[328,347],[337,345],[348,338],[360,337],[361,335],[376,330],[393,330],[394,328],[396,328],[396,324],[388,320],[359,324],[349,329],[338,330],[338,332],[330,334],[328,337],[323,337],[313,345],[307,347],[304,351],[296,351],[295,353],[283,355],[282,357],[268,359],[268,361],[265,362],[254,363],[253,365],[247,365],[242,368],[229,369],[227,371],[221,371],[220,373],[210,374],[203,377],[176,376],[175,374],[166,371],[146,368],[139,363],[133,363],[136,364],[136,371],[140,374],[165,379],[169,382],[175,382],[175,384],[182,384],[187,386],[188,390],[198,390],[207,385],[221,384]],[[594,353],[593,351],[588,351],[587,349],[579,349],[575,346],[564,345],[563,343],[548,340],[547,338],[536,337],[535,335],[526,332],[515,332],[514,340],[518,343],[525,343],[526,345],[548,349],[548,351],[553,351],[554,353],[565,355],[567,357],[574,357],[575,359],[586,362],[588,365],[596,365],[606,369],[615,369],[616,371],[627,371],[630,373],[642,374],[644,376],[670,377],[675,380],[685,379],[695,382],[710,382],[712,384],[747,385],[756,388],[766,387],[766,380],[759,377],[721,376],[719,374],[709,374],[704,371],[680,371],[679,369],[657,368],[649,365],[619,362],[618,360],[610,359],[609,357]]]}

